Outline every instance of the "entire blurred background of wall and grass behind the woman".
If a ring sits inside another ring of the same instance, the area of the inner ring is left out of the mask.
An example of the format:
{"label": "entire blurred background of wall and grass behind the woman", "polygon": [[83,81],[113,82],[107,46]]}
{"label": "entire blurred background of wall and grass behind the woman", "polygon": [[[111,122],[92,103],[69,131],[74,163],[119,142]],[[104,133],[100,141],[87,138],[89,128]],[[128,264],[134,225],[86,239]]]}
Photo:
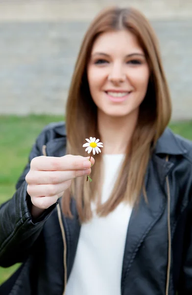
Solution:
{"label": "entire blurred background of wall and grass behind the woman", "polygon": [[[172,97],[170,127],[192,139],[192,0],[0,0],[0,203],[12,197],[41,129],[64,119],[82,37],[112,4],[151,21]],[[0,283],[16,267],[0,268]]]}

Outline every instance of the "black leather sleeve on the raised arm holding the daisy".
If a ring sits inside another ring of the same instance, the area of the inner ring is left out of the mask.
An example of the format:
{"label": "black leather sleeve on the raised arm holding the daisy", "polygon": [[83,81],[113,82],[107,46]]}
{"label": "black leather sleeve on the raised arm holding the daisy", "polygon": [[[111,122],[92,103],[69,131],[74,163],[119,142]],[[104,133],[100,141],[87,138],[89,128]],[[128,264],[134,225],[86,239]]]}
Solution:
{"label": "black leather sleeve on the raised arm holding the daisy", "polygon": [[38,239],[44,223],[55,207],[49,207],[35,221],[31,216],[31,201],[27,194],[25,176],[34,157],[42,155],[41,147],[46,141],[46,131],[36,140],[29,155],[28,164],[16,185],[17,191],[11,200],[0,207],[0,266],[11,266],[22,262]]}

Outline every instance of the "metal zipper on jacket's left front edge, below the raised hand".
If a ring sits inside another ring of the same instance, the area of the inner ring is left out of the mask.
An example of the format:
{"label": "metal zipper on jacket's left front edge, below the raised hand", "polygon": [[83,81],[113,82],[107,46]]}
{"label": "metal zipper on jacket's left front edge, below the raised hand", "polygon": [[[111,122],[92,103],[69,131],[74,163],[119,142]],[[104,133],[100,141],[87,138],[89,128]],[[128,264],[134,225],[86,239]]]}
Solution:
{"label": "metal zipper on jacket's left front edge, below the raised hand", "polygon": [[[47,156],[46,148],[47,148],[47,146],[45,146],[45,145],[42,147],[42,153],[44,156]],[[62,234],[63,245],[64,245],[64,251],[63,251],[64,290],[63,290],[63,295],[65,295],[65,289],[67,286],[67,242],[66,242],[65,228],[63,225],[63,221],[62,221],[61,207],[60,207],[59,203],[57,204],[57,215],[58,215],[58,219],[59,219],[59,225],[61,228],[61,234]]]}

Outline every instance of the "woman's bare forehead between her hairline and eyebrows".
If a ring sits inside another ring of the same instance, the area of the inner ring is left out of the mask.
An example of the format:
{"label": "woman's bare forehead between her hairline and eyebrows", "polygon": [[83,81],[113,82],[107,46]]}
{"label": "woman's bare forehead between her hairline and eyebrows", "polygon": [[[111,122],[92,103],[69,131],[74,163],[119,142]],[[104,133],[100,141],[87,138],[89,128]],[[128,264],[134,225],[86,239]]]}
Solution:
{"label": "woman's bare forehead between her hairline and eyebrows", "polygon": [[92,54],[103,52],[108,54],[125,52],[144,53],[137,37],[128,30],[108,31],[100,34],[93,44]]}

